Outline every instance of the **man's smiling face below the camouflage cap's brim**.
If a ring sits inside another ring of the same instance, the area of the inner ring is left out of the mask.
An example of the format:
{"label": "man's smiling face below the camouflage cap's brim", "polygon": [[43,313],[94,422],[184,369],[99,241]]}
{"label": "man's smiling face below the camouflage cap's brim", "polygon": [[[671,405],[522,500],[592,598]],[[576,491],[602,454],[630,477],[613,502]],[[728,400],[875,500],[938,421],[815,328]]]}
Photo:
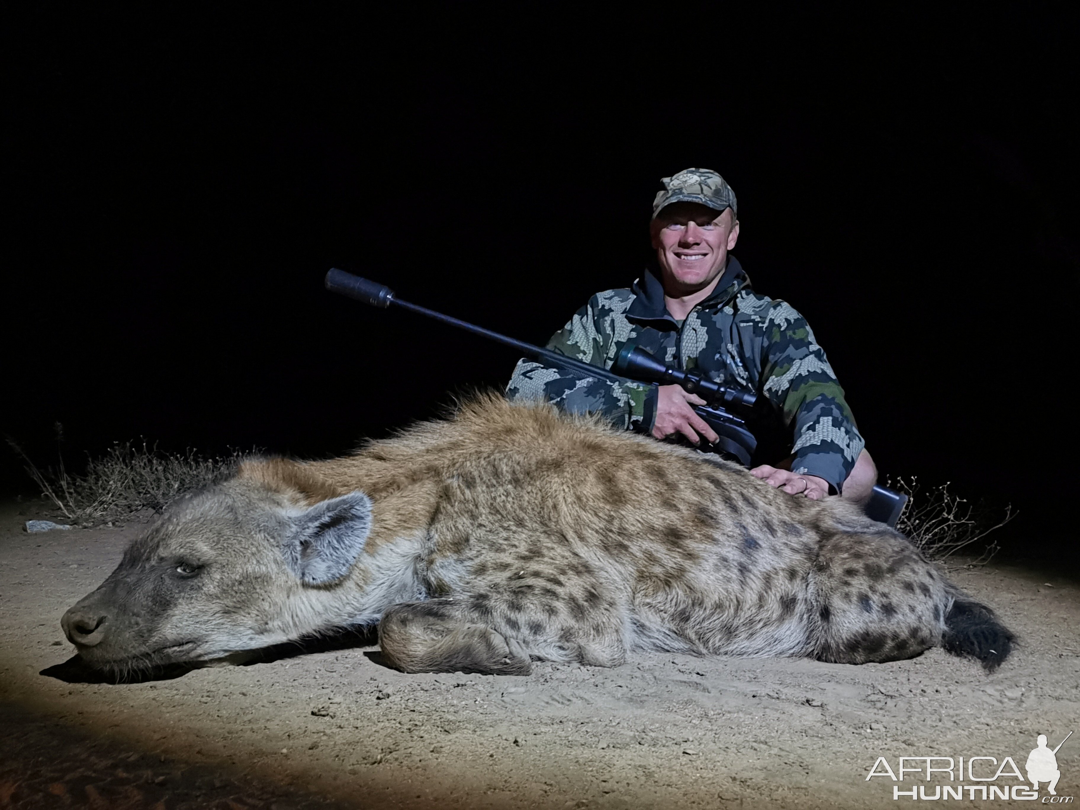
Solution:
{"label": "man's smiling face below the camouflage cap's brim", "polygon": [[728,251],[739,239],[739,222],[731,208],[678,202],[661,210],[652,220],[664,292],[670,296],[696,293],[715,281],[727,265]]}

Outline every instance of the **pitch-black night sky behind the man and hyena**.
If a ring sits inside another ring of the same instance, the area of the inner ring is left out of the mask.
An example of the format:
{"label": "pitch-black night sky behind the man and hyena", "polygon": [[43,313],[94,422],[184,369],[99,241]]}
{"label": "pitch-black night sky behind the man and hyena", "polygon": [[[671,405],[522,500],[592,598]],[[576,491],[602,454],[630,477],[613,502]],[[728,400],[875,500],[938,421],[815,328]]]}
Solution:
{"label": "pitch-black night sky behind the man and hyena", "polygon": [[881,471],[1013,501],[1014,544],[1065,537],[1064,21],[642,17],[632,41],[460,10],[81,13],[5,49],[2,430],[39,458],[54,420],[71,460],[139,435],[327,455],[504,384],[513,352],[332,296],[326,269],[542,343],[639,273],[659,178],[699,165]]}

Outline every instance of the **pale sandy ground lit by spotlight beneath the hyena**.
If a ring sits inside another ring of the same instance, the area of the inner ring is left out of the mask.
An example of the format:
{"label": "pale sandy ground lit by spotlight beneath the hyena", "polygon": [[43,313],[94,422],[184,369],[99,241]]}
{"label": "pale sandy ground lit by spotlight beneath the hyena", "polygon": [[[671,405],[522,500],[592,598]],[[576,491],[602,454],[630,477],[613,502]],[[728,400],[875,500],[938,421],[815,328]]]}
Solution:
{"label": "pale sandy ground lit by spotlight beneath the hyena", "polygon": [[[1005,565],[951,575],[1020,636],[989,676],[937,649],[865,666],[649,654],[526,678],[404,675],[352,635],[92,683],[59,617],[145,525],[22,529],[50,516],[0,504],[0,807],[895,807],[894,784],[950,783],[866,781],[879,756],[1023,768],[1038,733],[1053,746],[1080,731],[1080,588]],[[1057,758],[1058,794],[1080,796],[1080,734]]]}

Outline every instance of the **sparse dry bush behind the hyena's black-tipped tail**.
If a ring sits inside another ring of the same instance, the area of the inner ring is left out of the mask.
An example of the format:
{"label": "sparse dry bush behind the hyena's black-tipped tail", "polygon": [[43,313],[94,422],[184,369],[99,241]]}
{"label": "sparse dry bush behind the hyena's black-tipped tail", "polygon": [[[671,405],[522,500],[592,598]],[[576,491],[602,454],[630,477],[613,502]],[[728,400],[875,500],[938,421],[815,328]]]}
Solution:
{"label": "sparse dry bush behind the hyena's black-tipped tail", "polygon": [[1003,515],[995,515],[982,501],[973,504],[950,492],[948,482],[924,490],[918,476],[912,475],[890,478],[887,485],[907,496],[896,529],[930,559],[944,562],[961,551],[978,552],[980,555],[966,565],[986,565],[998,553],[998,544],[978,541],[1016,516],[1011,503],[1005,505]]}

